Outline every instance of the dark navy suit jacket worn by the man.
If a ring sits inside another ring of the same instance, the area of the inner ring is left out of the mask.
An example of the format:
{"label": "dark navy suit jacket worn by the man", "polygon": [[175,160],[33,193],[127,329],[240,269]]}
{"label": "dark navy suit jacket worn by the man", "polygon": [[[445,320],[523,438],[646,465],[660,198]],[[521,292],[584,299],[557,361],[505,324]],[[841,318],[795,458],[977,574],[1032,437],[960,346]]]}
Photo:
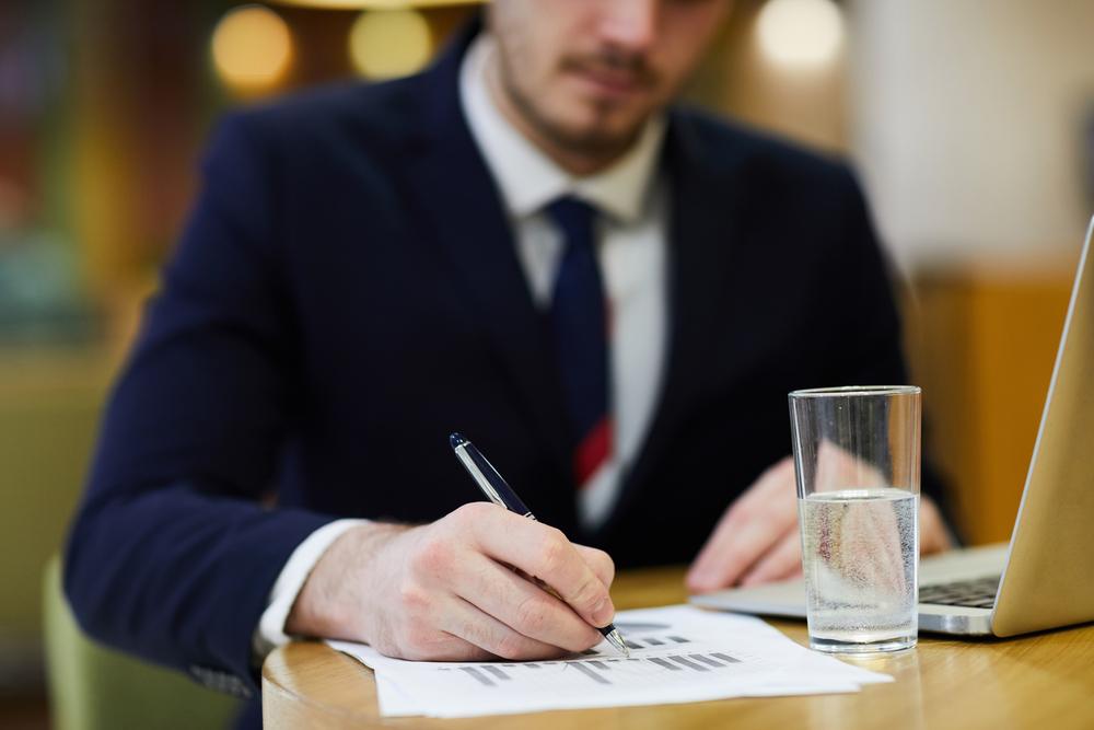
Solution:
{"label": "dark navy suit jacket worn by the man", "polygon": [[788,391],[906,380],[849,171],[673,109],[666,374],[618,506],[584,532],[543,314],[458,104],[466,43],[220,126],[71,531],[93,636],[253,690],[253,631],[312,531],[481,498],[454,430],[618,566],[687,561],[790,452]]}

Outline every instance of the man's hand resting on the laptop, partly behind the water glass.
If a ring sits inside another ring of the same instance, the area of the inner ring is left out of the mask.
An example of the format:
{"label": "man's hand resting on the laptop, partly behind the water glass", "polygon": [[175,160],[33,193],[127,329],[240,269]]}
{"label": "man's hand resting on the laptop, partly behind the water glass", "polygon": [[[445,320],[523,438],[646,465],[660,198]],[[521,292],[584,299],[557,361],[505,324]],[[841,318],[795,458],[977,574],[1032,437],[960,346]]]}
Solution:
{"label": "man's hand resting on the laptop, partly behind the water glass", "polygon": [[[919,505],[920,553],[947,549],[950,537],[929,497]],[[802,572],[798,493],[790,456],[768,468],[734,501],[687,575],[695,593],[729,586],[754,586]]]}

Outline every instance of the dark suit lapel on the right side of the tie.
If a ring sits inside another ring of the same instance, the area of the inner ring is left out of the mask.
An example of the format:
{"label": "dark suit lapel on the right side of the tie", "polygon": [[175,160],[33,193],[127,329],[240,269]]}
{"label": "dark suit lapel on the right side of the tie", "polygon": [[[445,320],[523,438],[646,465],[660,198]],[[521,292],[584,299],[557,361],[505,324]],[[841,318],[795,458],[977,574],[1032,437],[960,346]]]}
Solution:
{"label": "dark suit lapel on the right side of the tie", "polygon": [[[664,163],[672,186],[670,209],[668,360],[645,443],[628,471],[616,509],[601,528],[626,519],[628,506],[697,399],[709,393],[715,333],[725,329],[725,290],[737,246],[741,190],[735,177],[715,174],[687,117],[673,114]],[[672,485],[663,485],[671,487]]]}

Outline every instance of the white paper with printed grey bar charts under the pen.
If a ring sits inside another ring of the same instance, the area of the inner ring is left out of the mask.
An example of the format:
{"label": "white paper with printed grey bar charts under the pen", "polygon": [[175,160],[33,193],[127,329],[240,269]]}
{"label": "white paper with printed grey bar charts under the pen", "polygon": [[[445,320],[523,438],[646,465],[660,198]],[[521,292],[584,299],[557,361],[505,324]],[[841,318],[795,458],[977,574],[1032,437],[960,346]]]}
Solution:
{"label": "white paper with printed grey bar charts under the pen", "polygon": [[539,662],[412,662],[347,641],[328,644],[376,673],[384,716],[474,717],[773,695],[857,692],[887,674],[810,651],[763,621],[694,606],[626,611],[607,641]]}

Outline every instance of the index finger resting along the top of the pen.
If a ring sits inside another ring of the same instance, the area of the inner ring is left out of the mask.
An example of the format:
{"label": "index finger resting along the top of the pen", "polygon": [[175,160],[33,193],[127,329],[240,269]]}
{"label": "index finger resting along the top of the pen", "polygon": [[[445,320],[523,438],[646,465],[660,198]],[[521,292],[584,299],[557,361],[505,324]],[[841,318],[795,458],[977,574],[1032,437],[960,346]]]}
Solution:
{"label": "index finger resting along the top of the pen", "polygon": [[479,551],[544,581],[593,626],[612,622],[615,606],[607,587],[560,530],[493,505],[479,505],[468,515],[475,518],[468,530]]}

